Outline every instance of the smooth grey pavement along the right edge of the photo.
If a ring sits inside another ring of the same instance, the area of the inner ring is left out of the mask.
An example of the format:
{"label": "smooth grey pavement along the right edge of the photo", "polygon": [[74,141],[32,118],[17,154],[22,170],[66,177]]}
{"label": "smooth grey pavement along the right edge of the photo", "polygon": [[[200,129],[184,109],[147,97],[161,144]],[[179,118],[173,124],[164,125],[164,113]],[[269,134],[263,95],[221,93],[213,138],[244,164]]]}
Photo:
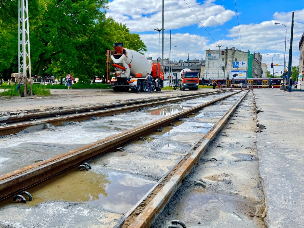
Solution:
{"label": "smooth grey pavement along the right edge of the photo", "polygon": [[257,151],[267,203],[268,227],[304,226],[304,93],[254,90]]}

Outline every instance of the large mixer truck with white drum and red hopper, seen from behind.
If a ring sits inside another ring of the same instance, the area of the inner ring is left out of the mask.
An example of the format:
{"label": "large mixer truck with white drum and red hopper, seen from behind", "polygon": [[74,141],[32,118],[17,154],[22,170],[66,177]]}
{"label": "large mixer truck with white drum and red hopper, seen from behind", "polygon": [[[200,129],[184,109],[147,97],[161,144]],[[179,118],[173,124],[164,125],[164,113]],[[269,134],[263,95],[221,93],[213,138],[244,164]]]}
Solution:
{"label": "large mixer truck with white drum and red hopper, seen from behind", "polygon": [[[160,63],[153,63],[147,60],[137,51],[123,47],[123,43],[114,43],[115,52],[110,55],[115,69],[114,76],[111,78],[110,85],[114,91],[127,92],[146,92],[147,73],[152,76],[152,91],[161,91],[164,81],[164,69]],[[157,65],[159,73],[157,74]]]}

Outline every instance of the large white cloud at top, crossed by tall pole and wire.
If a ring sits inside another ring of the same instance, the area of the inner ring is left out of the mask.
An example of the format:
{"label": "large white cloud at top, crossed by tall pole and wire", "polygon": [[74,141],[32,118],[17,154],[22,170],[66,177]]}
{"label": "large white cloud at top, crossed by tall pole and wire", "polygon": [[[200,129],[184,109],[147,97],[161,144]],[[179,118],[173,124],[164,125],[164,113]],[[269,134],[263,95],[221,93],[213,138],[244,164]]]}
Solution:
{"label": "large white cloud at top, crossed by tall pole and wire", "polygon": [[[215,0],[208,0],[200,4],[196,0],[187,3],[204,26],[223,25],[229,21],[235,12],[226,10],[221,5],[216,5]],[[133,32],[153,31],[162,26],[161,1],[113,0],[109,2],[108,14],[118,22],[126,23]],[[185,26],[201,24],[193,15],[183,0],[164,1],[164,29],[179,29]]]}

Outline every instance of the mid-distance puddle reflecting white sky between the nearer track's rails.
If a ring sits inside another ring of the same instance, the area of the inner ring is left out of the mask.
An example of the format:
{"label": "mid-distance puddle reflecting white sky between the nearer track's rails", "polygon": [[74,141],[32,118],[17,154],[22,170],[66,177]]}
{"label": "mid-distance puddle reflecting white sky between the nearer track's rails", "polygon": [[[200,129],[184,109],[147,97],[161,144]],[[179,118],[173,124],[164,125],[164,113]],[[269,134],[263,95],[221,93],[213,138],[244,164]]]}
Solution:
{"label": "mid-distance puddle reflecting white sky between the nearer track's rails", "polygon": [[[177,122],[181,123],[181,122]],[[186,132],[194,132],[194,133],[206,133],[213,126],[213,123],[198,123],[198,122],[183,122],[178,126],[165,127],[163,131],[167,131],[163,134],[163,136],[169,136],[172,133],[186,133]]]}

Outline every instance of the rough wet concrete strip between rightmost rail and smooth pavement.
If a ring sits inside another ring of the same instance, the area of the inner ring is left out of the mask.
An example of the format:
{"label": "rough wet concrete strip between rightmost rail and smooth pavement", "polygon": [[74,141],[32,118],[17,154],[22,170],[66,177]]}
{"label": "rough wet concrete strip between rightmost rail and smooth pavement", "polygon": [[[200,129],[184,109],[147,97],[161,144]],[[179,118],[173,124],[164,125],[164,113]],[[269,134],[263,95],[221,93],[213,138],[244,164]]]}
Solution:
{"label": "rough wet concrete strip between rightmost rail and smooth pavement", "polygon": [[[254,108],[250,92],[152,228],[167,228],[173,219],[182,221],[187,228],[265,227],[261,218],[265,205],[255,146]],[[206,188],[195,183],[199,180],[206,181]]]}

